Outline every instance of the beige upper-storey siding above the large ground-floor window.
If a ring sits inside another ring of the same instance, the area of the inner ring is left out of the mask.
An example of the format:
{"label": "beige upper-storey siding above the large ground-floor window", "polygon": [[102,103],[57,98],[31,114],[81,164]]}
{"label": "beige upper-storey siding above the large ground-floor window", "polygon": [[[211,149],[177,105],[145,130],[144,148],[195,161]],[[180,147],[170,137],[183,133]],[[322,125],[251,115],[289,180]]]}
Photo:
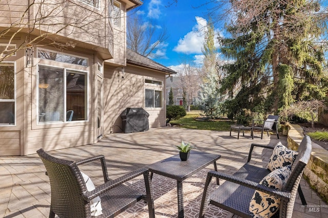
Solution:
{"label": "beige upper-storey siding above the large ground-floor window", "polygon": [[[31,35],[47,34],[44,35],[46,38],[63,44],[72,43],[74,46],[86,49],[98,46],[101,56],[107,56],[107,58],[112,56],[113,39],[109,36],[113,35],[113,29],[106,15],[108,13],[107,1],[99,1],[99,8],[77,0],[59,4],[57,1],[45,1],[42,7],[39,6],[38,1],[35,1],[30,10],[28,10],[28,2],[11,0],[4,3],[0,1],[0,30],[11,27],[11,32],[14,32],[18,28],[34,28],[40,31],[34,31]],[[43,17],[40,17],[41,15]],[[25,19],[22,20],[23,16]],[[33,25],[34,22],[35,25]],[[32,25],[29,27],[26,23],[32,23]],[[65,27],[60,23],[69,25]],[[10,36],[11,34],[8,34],[7,37]]]}

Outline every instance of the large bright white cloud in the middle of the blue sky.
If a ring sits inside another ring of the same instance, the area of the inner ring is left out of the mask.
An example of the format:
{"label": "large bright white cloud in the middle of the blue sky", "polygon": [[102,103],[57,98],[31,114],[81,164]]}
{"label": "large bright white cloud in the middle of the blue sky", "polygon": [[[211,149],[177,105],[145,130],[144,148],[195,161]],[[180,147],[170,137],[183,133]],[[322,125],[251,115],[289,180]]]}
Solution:
{"label": "large bright white cloud in the middle of the blue sky", "polygon": [[196,22],[192,31],[187,33],[182,39],[179,39],[178,45],[174,47],[173,51],[184,54],[201,53],[207,21],[202,17],[196,17]]}

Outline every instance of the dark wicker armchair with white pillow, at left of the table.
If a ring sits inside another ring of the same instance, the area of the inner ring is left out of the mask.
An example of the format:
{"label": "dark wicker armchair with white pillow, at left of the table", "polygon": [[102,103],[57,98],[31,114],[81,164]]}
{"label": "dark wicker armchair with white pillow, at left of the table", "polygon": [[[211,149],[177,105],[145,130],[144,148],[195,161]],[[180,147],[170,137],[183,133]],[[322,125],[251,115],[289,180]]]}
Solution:
{"label": "dark wicker armchair with white pillow, at left of the table", "polygon": [[[79,161],[63,160],[39,149],[51,186],[51,205],[49,217],[114,217],[133,206],[139,200],[148,203],[149,217],[155,217],[154,202],[151,196],[150,176],[147,168],[140,168],[115,180],[110,180],[104,155],[98,155]],[[105,183],[88,191],[79,164],[100,160]],[[122,184],[137,176],[144,175],[146,194]],[[91,216],[90,201],[99,196],[103,214]]]}

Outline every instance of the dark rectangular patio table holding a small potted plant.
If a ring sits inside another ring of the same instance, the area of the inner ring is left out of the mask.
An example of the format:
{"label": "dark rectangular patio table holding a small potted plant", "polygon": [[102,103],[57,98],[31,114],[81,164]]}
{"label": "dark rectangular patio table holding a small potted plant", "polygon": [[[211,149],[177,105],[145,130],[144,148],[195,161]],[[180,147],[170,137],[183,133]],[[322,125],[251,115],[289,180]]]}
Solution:
{"label": "dark rectangular patio table holding a small potted plant", "polygon": [[211,163],[214,164],[214,170],[217,171],[216,161],[220,157],[221,155],[218,154],[191,150],[187,161],[181,161],[179,154],[177,154],[146,167],[149,168],[151,178],[155,173],[177,181],[178,217],[184,217],[182,181],[196,174]]}

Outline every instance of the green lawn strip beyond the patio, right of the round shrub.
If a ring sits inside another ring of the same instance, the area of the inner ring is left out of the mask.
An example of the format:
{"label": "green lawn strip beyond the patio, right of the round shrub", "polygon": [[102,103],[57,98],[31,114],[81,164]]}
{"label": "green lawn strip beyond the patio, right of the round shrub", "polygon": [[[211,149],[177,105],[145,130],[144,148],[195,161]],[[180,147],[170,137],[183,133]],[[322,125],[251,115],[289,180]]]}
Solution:
{"label": "green lawn strip beyond the patio, right of the round shrub", "polygon": [[198,129],[198,130],[220,130],[230,131],[231,121],[197,121],[194,120],[197,115],[189,115],[180,119],[172,120],[171,124],[179,124],[182,128],[186,129]]}

